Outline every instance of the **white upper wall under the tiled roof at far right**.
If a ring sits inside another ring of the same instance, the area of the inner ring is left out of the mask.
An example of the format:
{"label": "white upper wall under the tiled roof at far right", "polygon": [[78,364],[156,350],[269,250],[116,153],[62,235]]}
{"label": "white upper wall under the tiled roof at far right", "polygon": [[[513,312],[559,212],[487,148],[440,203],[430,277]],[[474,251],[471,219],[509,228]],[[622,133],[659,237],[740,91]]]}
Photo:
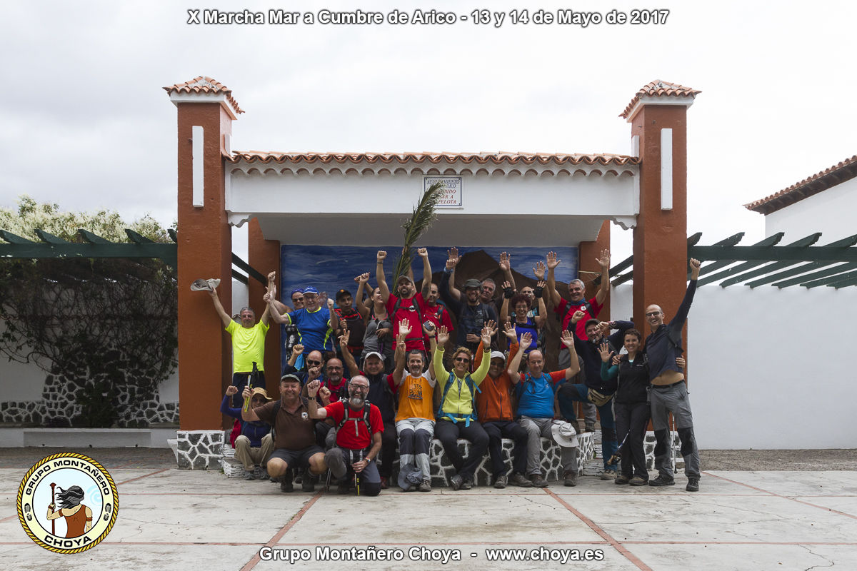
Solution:
{"label": "white upper wall under the tiled roof at far right", "polygon": [[842,182],[818,194],[799,200],[764,217],[765,235],[785,232],[783,243],[800,240],[814,232],[824,232],[818,246],[857,234],[857,178]]}

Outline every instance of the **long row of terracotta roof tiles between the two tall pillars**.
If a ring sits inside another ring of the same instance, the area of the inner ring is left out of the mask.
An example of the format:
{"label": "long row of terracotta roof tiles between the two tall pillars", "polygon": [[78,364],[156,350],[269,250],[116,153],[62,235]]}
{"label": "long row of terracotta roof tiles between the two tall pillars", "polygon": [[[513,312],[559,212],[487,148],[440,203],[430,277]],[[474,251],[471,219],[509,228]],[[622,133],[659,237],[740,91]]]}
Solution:
{"label": "long row of terracotta roof tiles between the two tall pillars", "polygon": [[375,164],[405,164],[405,163],[426,163],[453,164],[462,162],[464,164],[602,164],[602,165],[625,165],[639,164],[638,157],[628,157],[626,155],[614,154],[553,154],[553,153],[528,153],[528,152],[482,152],[482,153],[452,153],[452,152],[235,152],[231,156],[226,157],[231,163],[246,161],[248,163],[369,163]]}

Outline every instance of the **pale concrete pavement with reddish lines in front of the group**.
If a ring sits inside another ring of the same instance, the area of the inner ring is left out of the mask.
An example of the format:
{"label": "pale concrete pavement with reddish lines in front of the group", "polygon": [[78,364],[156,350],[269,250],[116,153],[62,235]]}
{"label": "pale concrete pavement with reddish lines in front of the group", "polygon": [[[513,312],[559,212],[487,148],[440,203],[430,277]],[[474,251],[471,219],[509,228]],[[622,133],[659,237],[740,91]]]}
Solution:
{"label": "pale concrete pavement with reddish lines in front of the group", "polygon": [[[684,491],[683,476],[659,489],[581,477],[576,488],[553,482],[547,490],[388,490],[369,498],[283,494],[267,481],[214,472],[107,467],[119,491],[116,526],[76,555],[51,553],[27,538],[15,514],[27,468],[0,469],[3,568],[857,568],[854,472],[705,472],[693,494]],[[293,562],[263,561],[260,551]],[[319,560],[381,551],[393,559]],[[569,560],[587,555],[596,560]]]}

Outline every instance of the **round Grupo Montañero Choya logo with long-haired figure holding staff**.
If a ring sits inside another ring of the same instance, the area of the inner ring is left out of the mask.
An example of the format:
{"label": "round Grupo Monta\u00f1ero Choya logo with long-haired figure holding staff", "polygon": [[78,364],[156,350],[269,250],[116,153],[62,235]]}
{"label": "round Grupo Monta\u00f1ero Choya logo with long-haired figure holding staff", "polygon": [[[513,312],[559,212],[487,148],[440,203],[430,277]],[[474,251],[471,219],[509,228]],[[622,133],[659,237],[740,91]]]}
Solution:
{"label": "round Grupo Monta\u00f1ero Choya logo with long-haired figure holding staff", "polygon": [[55,553],[80,553],[98,545],[118,511],[110,473],[82,454],[40,460],[18,487],[21,526],[34,542]]}

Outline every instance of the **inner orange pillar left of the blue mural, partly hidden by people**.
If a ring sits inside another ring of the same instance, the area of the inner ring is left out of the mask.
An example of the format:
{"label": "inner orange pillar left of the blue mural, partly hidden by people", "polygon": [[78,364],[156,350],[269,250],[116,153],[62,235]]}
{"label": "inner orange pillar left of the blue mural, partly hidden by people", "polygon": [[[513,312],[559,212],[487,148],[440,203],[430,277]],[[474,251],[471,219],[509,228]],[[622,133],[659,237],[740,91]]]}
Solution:
{"label": "inner orange pillar left of the blue mural, partly hidden by people", "polygon": [[[283,292],[279,291],[279,284],[282,283],[282,277],[279,275],[279,240],[265,240],[259,220],[256,218],[249,222],[247,257],[248,264],[264,274],[266,278],[268,272],[277,271],[277,298],[282,299]],[[262,296],[265,295],[266,288],[250,277],[248,289],[250,306],[253,307],[256,315],[261,317],[262,312],[265,311]],[[279,376],[283,371],[279,362],[280,326],[275,324],[273,319],[270,324],[271,329],[265,337],[265,384],[268,396],[276,399],[279,395]]]}

